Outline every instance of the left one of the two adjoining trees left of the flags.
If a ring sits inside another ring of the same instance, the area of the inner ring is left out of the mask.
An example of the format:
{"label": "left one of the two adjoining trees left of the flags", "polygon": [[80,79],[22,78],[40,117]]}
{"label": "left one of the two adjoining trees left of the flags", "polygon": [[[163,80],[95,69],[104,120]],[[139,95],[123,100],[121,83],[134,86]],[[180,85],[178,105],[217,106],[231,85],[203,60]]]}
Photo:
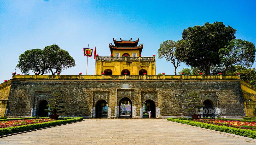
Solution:
{"label": "left one of the two adjoining trees left of the flags", "polygon": [[43,50],[26,50],[24,53],[20,54],[17,68],[24,74],[29,74],[30,70],[38,72],[38,74],[48,73],[48,66],[46,65]]}

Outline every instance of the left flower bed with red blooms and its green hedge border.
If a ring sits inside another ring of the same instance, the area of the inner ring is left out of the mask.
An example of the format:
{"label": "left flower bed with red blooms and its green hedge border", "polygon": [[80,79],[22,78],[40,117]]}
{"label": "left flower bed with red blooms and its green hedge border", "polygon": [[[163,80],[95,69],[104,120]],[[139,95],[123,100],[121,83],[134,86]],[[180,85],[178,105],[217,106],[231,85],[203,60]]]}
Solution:
{"label": "left flower bed with red blooms and its green hedge border", "polygon": [[[43,121],[45,121],[45,119],[46,119],[46,122],[43,122]],[[26,122],[26,120],[28,120],[28,121]],[[33,120],[36,120],[38,122],[33,121]],[[28,130],[39,129],[39,128],[44,128],[44,127],[49,127],[49,126],[56,126],[56,125],[65,124],[65,123],[82,121],[82,120],[83,120],[83,118],[81,118],[81,117],[74,117],[74,118],[64,117],[64,118],[59,118],[58,120],[51,120],[48,117],[40,117],[39,120],[37,120],[36,117],[1,119],[0,120],[1,123],[11,121],[14,123],[14,125],[12,127],[0,128],[0,136],[17,133],[17,132],[24,132],[24,131],[28,131]],[[22,121],[24,121],[24,122],[22,122]],[[21,125],[15,126],[15,122],[17,124],[21,124]],[[34,123],[31,123],[31,122],[34,122]],[[22,123],[24,123],[24,124],[22,124]]]}

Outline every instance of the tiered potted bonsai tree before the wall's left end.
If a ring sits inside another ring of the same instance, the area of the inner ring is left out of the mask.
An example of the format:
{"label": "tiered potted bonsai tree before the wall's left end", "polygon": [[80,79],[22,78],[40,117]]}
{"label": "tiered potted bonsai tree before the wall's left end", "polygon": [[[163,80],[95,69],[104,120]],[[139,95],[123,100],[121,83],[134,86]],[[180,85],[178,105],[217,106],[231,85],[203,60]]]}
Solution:
{"label": "tiered potted bonsai tree before the wall's left end", "polygon": [[61,104],[64,103],[64,101],[62,101],[62,97],[63,95],[61,93],[55,92],[52,95],[54,98],[53,99],[49,99],[50,103],[48,105],[46,105],[46,107],[49,107],[50,109],[45,109],[44,111],[50,112],[50,118],[51,119],[55,119],[57,120],[59,115],[57,113],[62,113],[65,112],[65,110],[62,110],[62,108],[64,108],[64,106],[62,106]]}

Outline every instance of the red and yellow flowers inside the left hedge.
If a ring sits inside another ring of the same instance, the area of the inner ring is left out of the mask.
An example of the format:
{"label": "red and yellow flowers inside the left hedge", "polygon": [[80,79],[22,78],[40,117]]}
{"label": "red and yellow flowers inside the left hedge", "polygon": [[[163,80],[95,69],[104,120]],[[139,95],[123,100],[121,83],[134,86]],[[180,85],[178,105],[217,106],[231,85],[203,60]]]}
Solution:
{"label": "red and yellow flowers inside the left hedge", "polygon": [[44,118],[44,119],[39,118],[39,119],[23,119],[23,120],[1,121],[0,122],[0,128],[35,124],[35,123],[42,123],[42,122],[49,122],[49,121],[54,121],[54,120],[49,119],[49,118]]}

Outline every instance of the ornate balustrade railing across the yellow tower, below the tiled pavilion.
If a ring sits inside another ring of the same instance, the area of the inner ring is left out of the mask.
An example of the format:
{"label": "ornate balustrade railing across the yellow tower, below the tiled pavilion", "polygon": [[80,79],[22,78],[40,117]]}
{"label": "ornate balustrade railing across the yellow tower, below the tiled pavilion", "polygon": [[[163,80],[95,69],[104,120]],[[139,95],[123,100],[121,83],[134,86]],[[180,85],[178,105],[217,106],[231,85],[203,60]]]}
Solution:
{"label": "ornate balustrade railing across the yellow tower, below the tiled pavilion", "polygon": [[155,61],[155,57],[109,57],[109,56],[97,56],[96,61]]}

